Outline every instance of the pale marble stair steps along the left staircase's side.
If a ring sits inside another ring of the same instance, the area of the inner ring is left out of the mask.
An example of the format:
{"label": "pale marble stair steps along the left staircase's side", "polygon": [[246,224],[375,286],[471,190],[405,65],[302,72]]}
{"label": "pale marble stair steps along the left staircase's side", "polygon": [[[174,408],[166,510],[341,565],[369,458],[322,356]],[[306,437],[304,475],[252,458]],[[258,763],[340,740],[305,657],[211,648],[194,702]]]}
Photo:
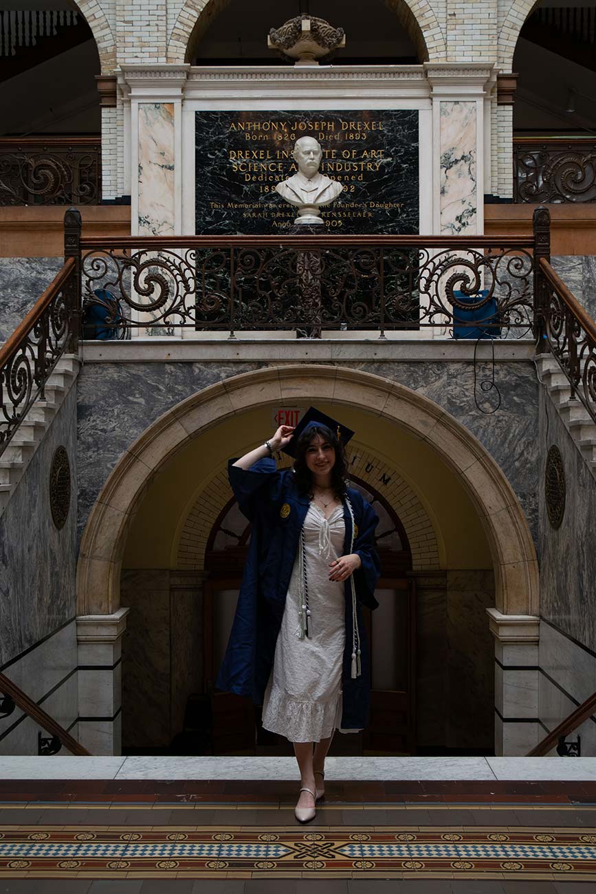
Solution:
{"label": "pale marble stair steps along the left staircase's side", "polygon": [[65,354],[48,377],[43,399],[38,398],[23,418],[12,441],[0,456],[0,515],[8,505],[31,458],[52,424],[64,398],[79,375],[80,358]]}

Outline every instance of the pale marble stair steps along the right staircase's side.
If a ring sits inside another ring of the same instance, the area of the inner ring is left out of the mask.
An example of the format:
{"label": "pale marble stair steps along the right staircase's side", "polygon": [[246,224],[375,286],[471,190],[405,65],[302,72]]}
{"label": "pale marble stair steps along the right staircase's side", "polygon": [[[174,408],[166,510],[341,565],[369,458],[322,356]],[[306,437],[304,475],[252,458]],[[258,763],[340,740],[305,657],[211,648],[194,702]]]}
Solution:
{"label": "pale marble stair steps along the right staircase's side", "polygon": [[572,441],[583,456],[592,475],[596,477],[596,424],[582,401],[572,399],[567,375],[552,354],[539,354],[536,367],[541,383],[557,409]]}

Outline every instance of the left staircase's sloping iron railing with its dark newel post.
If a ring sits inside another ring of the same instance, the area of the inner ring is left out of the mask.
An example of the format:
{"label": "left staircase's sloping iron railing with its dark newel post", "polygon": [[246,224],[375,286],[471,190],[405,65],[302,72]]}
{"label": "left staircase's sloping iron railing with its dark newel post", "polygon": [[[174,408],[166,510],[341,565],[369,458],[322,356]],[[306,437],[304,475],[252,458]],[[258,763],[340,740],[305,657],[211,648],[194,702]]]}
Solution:
{"label": "left staircase's sloping iron railing with its dark newel post", "polygon": [[73,214],[65,216],[63,268],[0,348],[0,454],[34,401],[43,396],[58,360],[78,350],[79,258],[69,254]]}

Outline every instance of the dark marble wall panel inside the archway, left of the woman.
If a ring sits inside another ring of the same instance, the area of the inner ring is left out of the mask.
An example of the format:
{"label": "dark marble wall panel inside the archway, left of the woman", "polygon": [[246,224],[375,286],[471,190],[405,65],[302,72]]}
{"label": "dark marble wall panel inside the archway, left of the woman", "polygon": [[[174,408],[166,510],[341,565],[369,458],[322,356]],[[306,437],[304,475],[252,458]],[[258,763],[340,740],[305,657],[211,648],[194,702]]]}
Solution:
{"label": "dark marble wall panel inside the archway, left of the woman", "polygon": [[170,572],[122,571],[122,749],[170,744]]}

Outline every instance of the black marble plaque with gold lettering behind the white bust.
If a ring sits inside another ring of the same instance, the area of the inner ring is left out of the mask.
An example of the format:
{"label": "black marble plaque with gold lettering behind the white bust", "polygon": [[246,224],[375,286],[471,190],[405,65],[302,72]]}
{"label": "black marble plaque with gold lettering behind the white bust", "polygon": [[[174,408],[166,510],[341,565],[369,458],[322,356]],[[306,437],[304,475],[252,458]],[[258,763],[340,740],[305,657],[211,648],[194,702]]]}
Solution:
{"label": "black marble plaque with gold lettering behind the white bust", "polygon": [[419,232],[416,110],[197,112],[195,132],[197,233],[287,232],[298,212],[274,189],[296,173],[304,136],[344,185],[322,209],[326,232]]}

